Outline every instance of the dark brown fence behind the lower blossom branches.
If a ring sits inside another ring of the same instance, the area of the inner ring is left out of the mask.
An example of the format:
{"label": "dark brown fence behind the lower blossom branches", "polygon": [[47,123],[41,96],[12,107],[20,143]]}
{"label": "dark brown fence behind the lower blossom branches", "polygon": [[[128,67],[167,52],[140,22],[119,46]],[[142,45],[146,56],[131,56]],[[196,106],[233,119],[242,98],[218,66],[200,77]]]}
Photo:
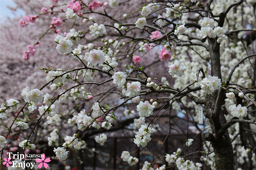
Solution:
{"label": "dark brown fence behind the lower blossom branches", "polygon": [[[195,135],[189,135],[193,138]],[[83,155],[85,170],[139,170],[145,161],[151,162],[152,159],[160,164],[168,165],[165,162],[165,153],[172,154],[177,148],[182,148],[184,152],[192,153],[199,151],[201,148],[200,137],[196,137],[192,145],[187,148],[185,142],[187,135],[169,135],[165,140],[165,136],[154,136],[146,147],[140,147],[133,142],[133,137],[113,137],[108,138],[107,142],[101,146],[94,139],[87,141],[89,148],[95,148],[96,152],[86,151]],[[135,153],[135,151],[138,151]],[[122,161],[121,154],[124,150],[134,151],[131,156],[139,158],[139,163],[129,167],[127,162]],[[190,155],[190,160],[199,162],[200,153],[196,152]]]}

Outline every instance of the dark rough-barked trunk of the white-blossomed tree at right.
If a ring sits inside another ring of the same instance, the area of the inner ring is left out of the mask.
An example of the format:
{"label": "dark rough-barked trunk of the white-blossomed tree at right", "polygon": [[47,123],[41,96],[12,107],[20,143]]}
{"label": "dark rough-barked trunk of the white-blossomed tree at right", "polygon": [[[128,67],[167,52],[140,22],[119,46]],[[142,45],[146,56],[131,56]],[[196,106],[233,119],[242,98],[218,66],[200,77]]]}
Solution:
{"label": "dark rough-barked trunk of the white-blossomed tree at right", "polygon": [[[221,61],[220,61],[220,44],[216,39],[208,38],[209,53],[211,59],[211,72],[212,76],[218,76],[222,79],[221,75]],[[206,140],[210,141],[215,152],[216,169],[217,170],[233,170],[233,148],[229,139],[228,132],[225,131],[221,136],[217,136],[218,131],[226,122],[224,113],[221,106],[224,102],[224,90],[208,97],[207,104],[207,117],[212,124],[213,134],[208,135]]]}

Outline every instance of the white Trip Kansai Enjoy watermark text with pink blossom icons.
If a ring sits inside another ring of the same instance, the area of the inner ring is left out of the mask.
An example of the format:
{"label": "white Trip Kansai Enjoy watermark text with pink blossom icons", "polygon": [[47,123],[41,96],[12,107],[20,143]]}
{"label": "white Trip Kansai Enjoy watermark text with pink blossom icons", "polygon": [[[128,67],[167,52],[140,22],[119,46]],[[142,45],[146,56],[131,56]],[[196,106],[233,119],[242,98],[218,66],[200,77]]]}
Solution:
{"label": "white Trip Kansai Enjoy watermark text with pink blossom icons", "polygon": [[[48,164],[51,159],[46,158],[45,154],[13,154],[12,152],[7,152],[8,157],[3,158],[4,162],[2,165],[6,165],[6,167],[12,167],[12,168],[30,168],[32,169],[35,165],[35,162],[39,163],[37,168],[41,169],[42,167],[48,169]],[[11,161],[11,159],[15,159],[14,161]],[[26,162],[27,161],[27,162]],[[28,162],[30,161],[30,162]],[[35,162],[31,162],[35,161]]]}

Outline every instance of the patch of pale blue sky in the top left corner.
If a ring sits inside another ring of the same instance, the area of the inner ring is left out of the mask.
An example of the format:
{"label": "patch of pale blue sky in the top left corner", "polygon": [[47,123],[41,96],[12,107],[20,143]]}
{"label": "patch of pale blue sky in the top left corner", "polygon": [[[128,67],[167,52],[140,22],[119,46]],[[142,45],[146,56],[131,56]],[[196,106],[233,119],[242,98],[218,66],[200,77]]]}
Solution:
{"label": "patch of pale blue sky in the top left corner", "polygon": [[12,12],[8,6],[16,6],[13,0],[0,0],[0,21],[4,21],[8,16],[14,18],[15,16],[25,15],[25,12],[22,10],[17,10]]}

